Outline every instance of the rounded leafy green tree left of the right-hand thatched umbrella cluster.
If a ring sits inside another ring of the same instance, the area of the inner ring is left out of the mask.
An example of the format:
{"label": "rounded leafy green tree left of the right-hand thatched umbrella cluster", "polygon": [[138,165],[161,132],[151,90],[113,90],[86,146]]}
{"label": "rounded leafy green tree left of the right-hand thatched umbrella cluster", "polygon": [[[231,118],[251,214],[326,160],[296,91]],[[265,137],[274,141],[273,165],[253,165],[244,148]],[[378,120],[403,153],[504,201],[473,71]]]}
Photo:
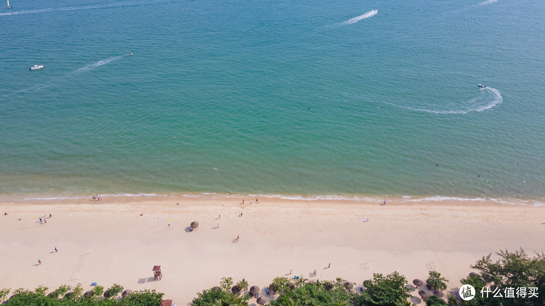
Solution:
{"label": "rounded leafy green tree left of the right-hand thatched umbrella cluster", "polygon": [[361,295],[355,295],[352,304],[354,306],[393,306],[399,299],[410,297],[407,285],[407,278],[397,271],[386,276],[373,273],[373,279],[365,285],[367,290],[362,291]]}

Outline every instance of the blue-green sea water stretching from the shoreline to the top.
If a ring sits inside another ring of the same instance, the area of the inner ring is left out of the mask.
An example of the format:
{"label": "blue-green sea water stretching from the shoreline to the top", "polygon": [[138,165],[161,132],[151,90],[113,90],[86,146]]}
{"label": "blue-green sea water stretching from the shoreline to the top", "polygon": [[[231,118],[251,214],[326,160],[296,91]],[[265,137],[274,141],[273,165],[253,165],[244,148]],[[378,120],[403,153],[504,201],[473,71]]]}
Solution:
{"label": "blue-green sea water stretching from the shoreline to the top", "polygon": [[4,196],[545,203],[541,0],[10,4]]}

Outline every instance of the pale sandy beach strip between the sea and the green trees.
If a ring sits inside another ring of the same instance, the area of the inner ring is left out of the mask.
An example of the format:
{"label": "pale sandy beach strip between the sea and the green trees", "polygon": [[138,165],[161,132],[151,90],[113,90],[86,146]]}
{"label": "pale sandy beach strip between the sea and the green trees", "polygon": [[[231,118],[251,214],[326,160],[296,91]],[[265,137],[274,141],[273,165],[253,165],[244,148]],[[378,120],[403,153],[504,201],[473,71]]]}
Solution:
{"label": "pale sandy beach strip between the sea and the green trees", "polygon": [[[0,288],[44,285],[52,291],[60,284],[82,283],[87,291],[92,282],[105,288],[117,283],[133,291],[156,289],[184,305],[224,276],[264,288],[293,270],[292,277],[341,277],[361,285],[373,273],[397,270],[411,283],[426,279],[432,264],[450,280],[451,290],[459,288],[459,279],[483,255],[519,247],[533,254],[544,246],[543,207],[250,201],[255,198],[0,203]],[[44,213],[52,217],[41,225],[34,216]],[[364,222],[367,217],[370,221]],[[189,232],[192,221],[200,225]],[[154,281],[154,265],[161,266],[162,280]]]}

